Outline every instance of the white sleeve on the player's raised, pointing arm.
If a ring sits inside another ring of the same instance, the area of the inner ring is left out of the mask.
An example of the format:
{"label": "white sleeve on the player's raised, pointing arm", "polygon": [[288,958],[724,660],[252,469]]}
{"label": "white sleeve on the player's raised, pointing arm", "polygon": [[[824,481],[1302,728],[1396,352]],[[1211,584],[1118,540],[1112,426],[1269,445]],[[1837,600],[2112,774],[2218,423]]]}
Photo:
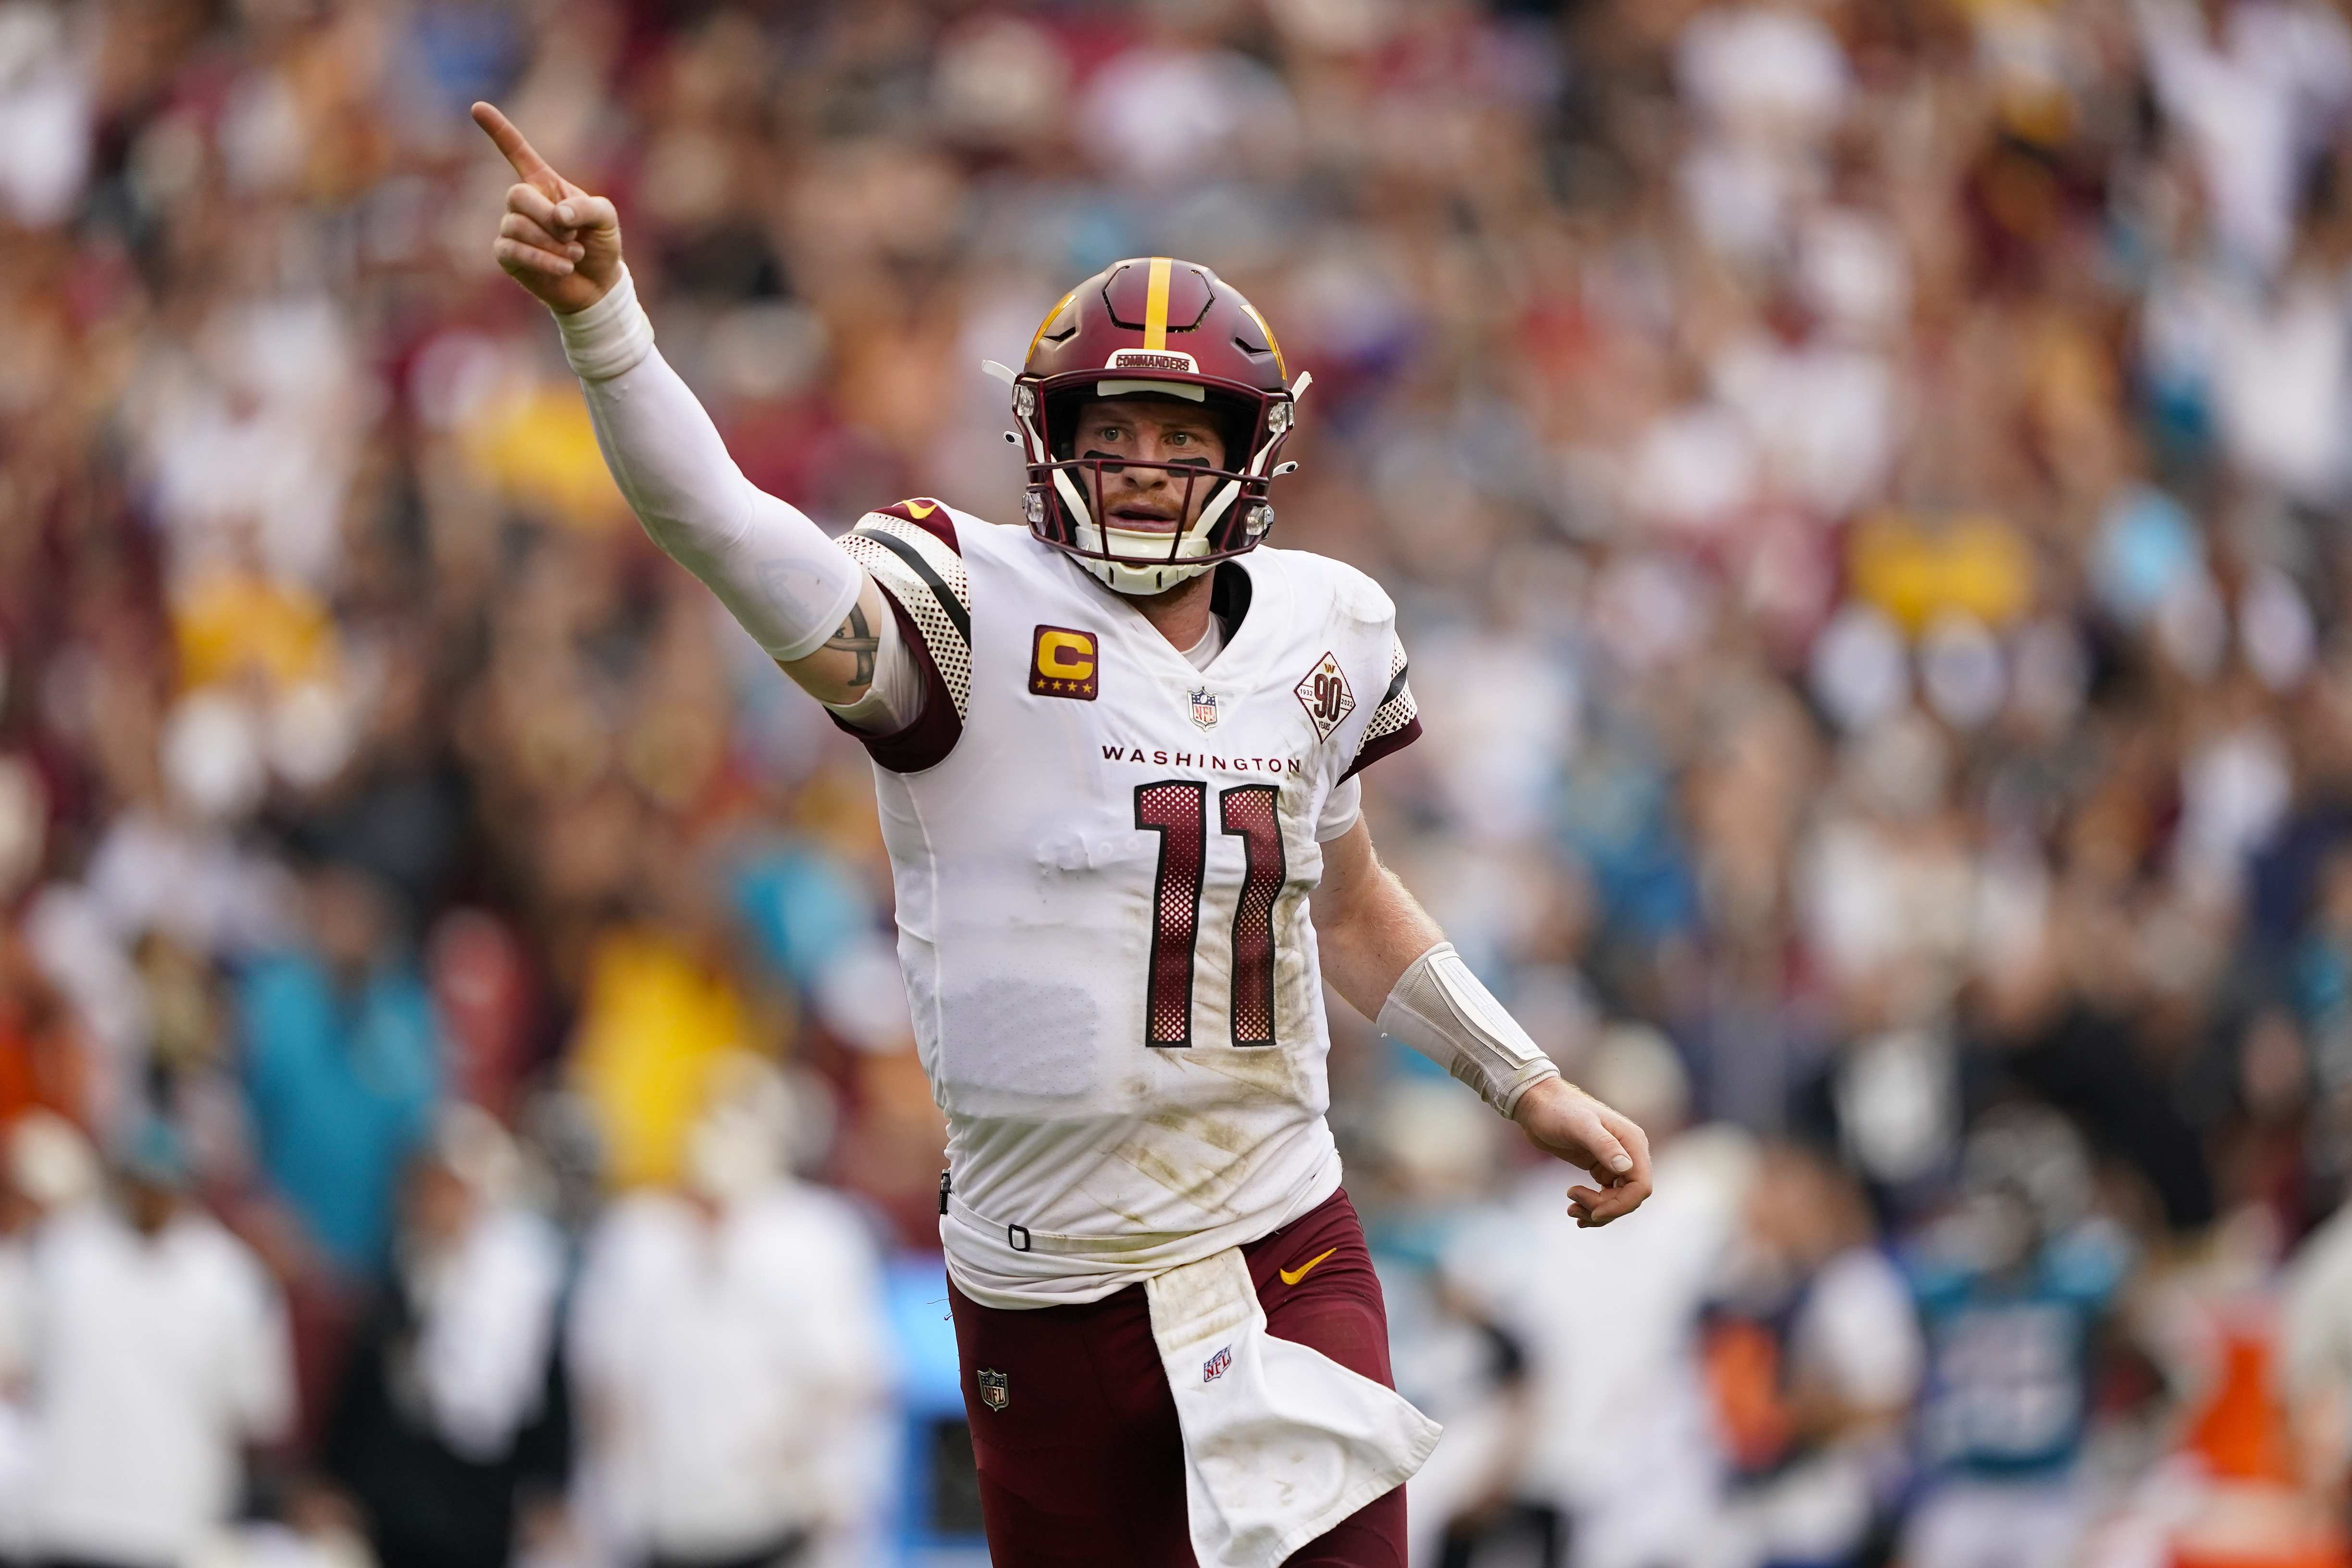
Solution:
{"label": "white sleeve on the player's raised, pointing arm", "polygon": [[555,324],[604,463],[644,531],[771,658],[814,654],[849,616],[866,571],[800,508],[743,477],[710,414],[654,350],[626,270],[604,299]]}

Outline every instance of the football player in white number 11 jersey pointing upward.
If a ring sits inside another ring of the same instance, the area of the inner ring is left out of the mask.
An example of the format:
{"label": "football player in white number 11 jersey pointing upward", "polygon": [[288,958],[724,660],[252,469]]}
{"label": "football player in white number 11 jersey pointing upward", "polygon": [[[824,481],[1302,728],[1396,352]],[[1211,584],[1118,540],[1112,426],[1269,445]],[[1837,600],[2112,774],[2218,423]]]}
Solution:
{"label": "football player in white number 11 jersey pointing upward", "polygon": [[[1251,1476],[1178,1420],[1171,1373],[1195,1394],[1258,1378],[1247,1340],[1171,1349],[1188,1307],[1167,1281],[1216,1265],[1284,1342],[1265,1368],[1303,1345],[1345,1368],[1338,1403],[1364,1380],[1395,1401],[1324,1124],[1324,983],[1588,1171],[1581,1225],[1642,1204],[1649,1147],[1374,856],[1355,776],[1421,733],[1395,607],[1350,567],[1263,545],[1308,376],[1209,268],[1122,261],[1054,306],[1018,371],[990,367],[1025,529],[917,498],[835,541],[743,480],[654,350],[612,202],[473,113],[517,176],[499,263],[555,313],[621,491],[873,755],[948,1117],[938,1229],[990,1552],[1402,1563],[1397,1481],[1435,1429],[1376,1488],[1334,1493],[1348,1512],[1312,1537],[1284,1535],[1282,1502],[1235,1523]],[[1258,1415],[1261,1436],[1294,1420]],[[1228,1537],[1202,1535],[1218,1507]]]}

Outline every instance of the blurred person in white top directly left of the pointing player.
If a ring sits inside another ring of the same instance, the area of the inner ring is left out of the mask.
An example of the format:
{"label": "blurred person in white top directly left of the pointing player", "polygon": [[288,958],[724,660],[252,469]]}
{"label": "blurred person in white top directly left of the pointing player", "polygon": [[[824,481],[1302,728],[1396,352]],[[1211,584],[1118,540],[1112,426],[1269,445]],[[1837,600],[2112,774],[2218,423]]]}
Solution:
{"label": "blurred person in white top directly left of the pointing player", "polygon": [[684,1178],[621,1197],[572,1312],[579,1512],[644,1568],[866,1561],[882,1469],[882,1281],[866,1222],[788,1173],[790,1091],[710,1063]]}

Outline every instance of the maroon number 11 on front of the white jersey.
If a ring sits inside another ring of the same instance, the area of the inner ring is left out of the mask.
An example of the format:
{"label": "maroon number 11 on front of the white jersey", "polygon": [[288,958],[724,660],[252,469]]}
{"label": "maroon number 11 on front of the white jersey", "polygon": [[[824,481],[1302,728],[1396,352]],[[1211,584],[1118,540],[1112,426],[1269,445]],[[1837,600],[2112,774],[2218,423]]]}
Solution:
{"label": "maroon number 11 on front of the white jersey", "polygon": [[[1232,910],[1232,1044],[1275,1044],[1275,898],[1282,893],[1282,818],[1275,785],[1218,790],[1218,827],[1242,839],[1242,898]],[[1202,867],[1209,858],[1209,785],[1167,778],[1136,785],[1136,827],[1160,835],[1152,877],[1152,966],[1143,1044],[1192,1044],[1192,966],[1200,947]]]}

